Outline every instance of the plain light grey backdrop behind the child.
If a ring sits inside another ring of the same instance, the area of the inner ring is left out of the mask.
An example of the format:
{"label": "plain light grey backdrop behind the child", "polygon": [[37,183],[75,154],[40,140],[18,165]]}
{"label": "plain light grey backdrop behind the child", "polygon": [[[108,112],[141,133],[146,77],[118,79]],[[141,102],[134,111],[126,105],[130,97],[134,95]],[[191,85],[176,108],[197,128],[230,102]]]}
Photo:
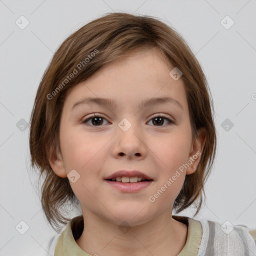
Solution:
{"label": "plain light grey backdrop behind the child", "polygon": [[[55,233],[41,210],[22,123],[60,43],[112,11],[157,16],[188,42],[208,79],[218,133],[206,204],[195,219],[256,228],[256,0],[0,0],[0,255],[28,255]],[[15,23],[21,15],[24,29]]]}

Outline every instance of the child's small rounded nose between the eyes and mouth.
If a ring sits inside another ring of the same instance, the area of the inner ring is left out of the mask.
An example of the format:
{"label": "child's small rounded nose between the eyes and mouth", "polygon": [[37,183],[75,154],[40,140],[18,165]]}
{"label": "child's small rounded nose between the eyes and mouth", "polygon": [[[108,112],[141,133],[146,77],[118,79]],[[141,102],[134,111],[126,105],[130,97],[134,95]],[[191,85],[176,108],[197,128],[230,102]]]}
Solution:
{"label": "child's small rounded nose between the eyes and mouth", "polygon": [[143,159],[146,156],[145,133],[134,119],[123,118],[118,123],[112,151],[114,157]]}

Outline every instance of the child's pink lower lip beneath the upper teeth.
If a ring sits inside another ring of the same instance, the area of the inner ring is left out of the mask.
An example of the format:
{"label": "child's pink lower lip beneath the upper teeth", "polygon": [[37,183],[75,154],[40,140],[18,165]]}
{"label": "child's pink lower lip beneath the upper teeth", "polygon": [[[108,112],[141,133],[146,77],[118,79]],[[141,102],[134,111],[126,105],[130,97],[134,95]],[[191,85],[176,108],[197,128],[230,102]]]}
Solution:
{"label": "child's pink lower lip beneath the upper teeth", "polygon": [[120,182],[120,181],[110,181],[110,180],[106,180],[105,181],[111,185],[112,187],[122,191],[122,192],[126,192],[126,193],[130,193],[130,192],[137,192],[140,191],[141,189],[149,186],[153,180],[150,181],[140,181],[140,182],[134,182],[134,183],[130,183],[130,182]]}

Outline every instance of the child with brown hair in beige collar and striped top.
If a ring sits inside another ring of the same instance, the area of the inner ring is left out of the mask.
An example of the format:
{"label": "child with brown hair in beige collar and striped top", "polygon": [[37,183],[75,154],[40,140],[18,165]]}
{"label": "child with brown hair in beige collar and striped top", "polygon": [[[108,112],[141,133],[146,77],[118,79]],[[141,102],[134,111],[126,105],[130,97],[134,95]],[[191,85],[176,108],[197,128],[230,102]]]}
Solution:
{"label": "child with brown hair in beige collar and striped top", "polygon": [[[187,44],[156,18],[110,13],[65,39],[30,119],[44,213],[55,230],[68,221],[45,255],[255,255],[245,227],[172,215],[203,201],[209,95]],[[65,217],[68,202],[82,215]]]}

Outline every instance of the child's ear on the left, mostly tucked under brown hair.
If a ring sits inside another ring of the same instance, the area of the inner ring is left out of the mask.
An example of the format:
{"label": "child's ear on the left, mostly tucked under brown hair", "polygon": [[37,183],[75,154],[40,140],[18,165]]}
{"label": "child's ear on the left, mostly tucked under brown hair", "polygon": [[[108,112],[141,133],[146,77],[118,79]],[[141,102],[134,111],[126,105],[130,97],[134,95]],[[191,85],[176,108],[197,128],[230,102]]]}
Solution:
{"label": "child's ear on the left, mostly tucked under brown hair", "polygon": [[65,178],[67,176],[62,156],[54,143],[46,145],[46,152],[49,164],[52,170],[60,177]]}

